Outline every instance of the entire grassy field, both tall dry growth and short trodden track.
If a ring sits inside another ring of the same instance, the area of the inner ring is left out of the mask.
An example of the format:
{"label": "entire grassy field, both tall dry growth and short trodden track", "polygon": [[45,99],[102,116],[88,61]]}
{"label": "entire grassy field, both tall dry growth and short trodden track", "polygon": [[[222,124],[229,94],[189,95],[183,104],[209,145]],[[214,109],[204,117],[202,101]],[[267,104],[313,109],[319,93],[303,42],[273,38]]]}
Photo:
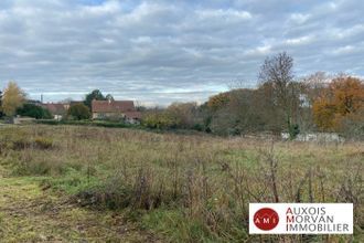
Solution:
{"label": "entire grassy field, both tall dry growth and short trodden track", "polygon": [[[6,242],[364,241],[363,142],[38,125],[0,146]],[[249,235],[248,203],[276,201],[353,202],[355,233]]]}

